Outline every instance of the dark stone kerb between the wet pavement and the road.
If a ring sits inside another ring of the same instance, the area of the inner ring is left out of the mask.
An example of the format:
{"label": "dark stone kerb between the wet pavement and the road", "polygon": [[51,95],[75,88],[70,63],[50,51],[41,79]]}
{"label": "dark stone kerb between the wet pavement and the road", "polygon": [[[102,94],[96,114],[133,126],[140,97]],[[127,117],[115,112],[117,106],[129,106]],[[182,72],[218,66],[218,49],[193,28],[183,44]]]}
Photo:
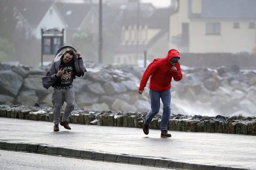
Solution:
{"label": "dark stone kerb between the wet pavement and the road", "polygon": [[74,157],[81,159],[90,159],[98,161],[117,162],[125,164],[136,164],[163,168],[178,168],[186,170],[245,170],[241,168],[230,168],[224,166],[199,165],[177,162],[171,159],[157,157],[142,157],[118,153],[108,153],[93,150],[79,150],[68,147],[56,147],[47,144],[35,143],[15,143],[0,141],[0,149],[11,151],[22,151],[29,153],[39,153],[46,155],[61,155],[65,157]]}

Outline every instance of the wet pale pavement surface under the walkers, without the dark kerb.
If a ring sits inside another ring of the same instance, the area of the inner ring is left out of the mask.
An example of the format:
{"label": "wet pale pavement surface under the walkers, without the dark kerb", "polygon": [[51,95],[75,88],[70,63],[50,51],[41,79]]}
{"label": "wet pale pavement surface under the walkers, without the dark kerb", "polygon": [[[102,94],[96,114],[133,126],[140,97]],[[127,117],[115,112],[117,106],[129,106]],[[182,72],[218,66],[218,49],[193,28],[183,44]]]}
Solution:
{"label": "wet pale pavement surface under the walkers, without the dark kerb", "polygon": [[103,151],[141,157],[166,158],[197,165],[256,169],[256,136],[172,131],[160,138],[160,130],[70,124],[72,130],[53,123],[0,118],[0,141],[40,143],[57,147]]}

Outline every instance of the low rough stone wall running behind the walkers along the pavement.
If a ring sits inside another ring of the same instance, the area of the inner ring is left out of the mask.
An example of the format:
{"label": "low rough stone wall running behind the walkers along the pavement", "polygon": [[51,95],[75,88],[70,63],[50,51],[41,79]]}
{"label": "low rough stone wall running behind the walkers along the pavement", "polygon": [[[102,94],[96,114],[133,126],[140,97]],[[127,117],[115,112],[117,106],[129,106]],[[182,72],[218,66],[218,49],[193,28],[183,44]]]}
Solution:
{"label": "low rough stone wall running behind the walkers along the pavement", "polygon": [[[142,128],[142,121],[145,115],[146,113],[140,112],[75,109],[70,114],[69,123]],[[27,108],[23,105],[0,105],[0,117],[53,121],[51,108]],[[159,115],[155,116],[150,124],[150,129],[160,129],[160,120]],[[172,114],[168,123],[168,130],[256,135],[256,117],[224,117],[220,115],[208,117]]]}

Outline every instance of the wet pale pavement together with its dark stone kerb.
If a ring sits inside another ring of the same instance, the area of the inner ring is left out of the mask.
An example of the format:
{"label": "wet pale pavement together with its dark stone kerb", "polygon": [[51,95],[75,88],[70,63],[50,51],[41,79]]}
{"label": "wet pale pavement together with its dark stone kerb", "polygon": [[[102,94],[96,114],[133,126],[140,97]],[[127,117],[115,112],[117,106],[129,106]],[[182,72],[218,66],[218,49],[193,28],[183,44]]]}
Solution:
{"label": "wet pale pavement together with its dark stone kerb", "polygon": [[256,169],[256,136],[171,131],[161,138],[153,129],[144,135],[129,127],[59,127],[53,132],[50,122],[0,118],[0,148],[166,168]]}

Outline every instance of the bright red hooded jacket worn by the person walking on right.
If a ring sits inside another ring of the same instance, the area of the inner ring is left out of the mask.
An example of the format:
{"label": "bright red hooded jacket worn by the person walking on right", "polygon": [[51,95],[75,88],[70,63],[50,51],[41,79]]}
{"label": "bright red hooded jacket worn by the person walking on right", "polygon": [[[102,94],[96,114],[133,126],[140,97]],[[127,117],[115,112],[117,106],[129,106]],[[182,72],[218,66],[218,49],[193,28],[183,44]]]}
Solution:
{"label": "bright red hooded jacket worn by the person walking on right", "polygon": [[149,88],[155,91],[170,89],[172,78],[175,81],[182,80],[182,71],[179,62],[174,65],[177,68],[177,72],[173,72],[172,70],[173,66],[170,60],[173,57],[180,58],[179,52],[176,49],[170,49],[166,57],[155,58],[145,70],[140,81],[139,90],[144,90],[150,76]]}

